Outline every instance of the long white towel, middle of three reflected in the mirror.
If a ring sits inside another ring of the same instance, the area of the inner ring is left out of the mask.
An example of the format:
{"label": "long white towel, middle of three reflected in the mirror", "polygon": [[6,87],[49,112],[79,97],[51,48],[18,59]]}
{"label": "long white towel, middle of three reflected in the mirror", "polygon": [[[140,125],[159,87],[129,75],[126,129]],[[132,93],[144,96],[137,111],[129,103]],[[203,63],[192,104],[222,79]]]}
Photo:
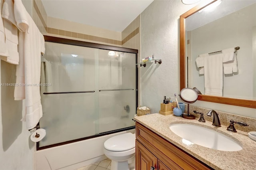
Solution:
{"label": "long white towel, middle of three reflected in the mirror", "polygon": [[204,94],[222,96],[222,53],[204,57]]}

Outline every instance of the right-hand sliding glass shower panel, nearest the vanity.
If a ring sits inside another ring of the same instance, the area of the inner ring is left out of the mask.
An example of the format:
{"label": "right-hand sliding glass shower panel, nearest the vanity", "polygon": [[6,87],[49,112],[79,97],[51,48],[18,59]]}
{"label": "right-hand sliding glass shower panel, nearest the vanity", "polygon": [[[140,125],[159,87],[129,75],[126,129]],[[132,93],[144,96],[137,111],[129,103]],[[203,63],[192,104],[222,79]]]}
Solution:
{"label": "right-hand sliding glass shower panel, nearest the vanity", "polygon": [[134,126],[136,111],[135,54],[99,50],[99,132]]}

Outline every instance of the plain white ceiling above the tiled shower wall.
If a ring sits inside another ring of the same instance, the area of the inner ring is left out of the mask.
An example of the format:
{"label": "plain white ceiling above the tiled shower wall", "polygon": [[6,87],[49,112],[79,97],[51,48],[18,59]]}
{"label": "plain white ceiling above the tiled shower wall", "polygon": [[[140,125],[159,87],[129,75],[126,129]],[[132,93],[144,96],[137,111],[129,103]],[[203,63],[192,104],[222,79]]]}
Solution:
{"label": "plain white ceiling above the tiled shower wall", "polygon": [[42,0],[46,14],[122,32],[153,0]]}

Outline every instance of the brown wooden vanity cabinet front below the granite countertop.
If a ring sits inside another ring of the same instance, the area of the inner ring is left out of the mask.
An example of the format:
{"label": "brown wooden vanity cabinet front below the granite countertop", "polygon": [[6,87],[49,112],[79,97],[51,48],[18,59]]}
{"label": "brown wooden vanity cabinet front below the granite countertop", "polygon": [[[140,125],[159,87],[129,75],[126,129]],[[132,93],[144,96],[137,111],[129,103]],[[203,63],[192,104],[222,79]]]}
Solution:
{"label": "brown wooden vanity cabinet front below the granite countertop", "polygon": [[136,122],[136,170],[212,170],[212,168]]}

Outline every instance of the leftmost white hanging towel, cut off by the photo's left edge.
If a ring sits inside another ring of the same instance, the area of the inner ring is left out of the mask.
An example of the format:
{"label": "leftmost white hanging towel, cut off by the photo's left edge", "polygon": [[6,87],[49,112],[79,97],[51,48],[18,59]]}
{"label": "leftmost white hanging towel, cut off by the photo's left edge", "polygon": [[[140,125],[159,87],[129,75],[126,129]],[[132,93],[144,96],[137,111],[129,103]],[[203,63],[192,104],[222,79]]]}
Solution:
{"label": "leftmost white hanging towel, cut off by the photo's left edge", "polygon": [[[2,2],[1,2],[2,5]],[[0,14],[2,14],[2,6],[0,6]],[[7,50],[7,46],[5,43],[5,32],[4,32],[4,21],[3,18],[0,17],[0,57],[8,57],[9,53]]]}

